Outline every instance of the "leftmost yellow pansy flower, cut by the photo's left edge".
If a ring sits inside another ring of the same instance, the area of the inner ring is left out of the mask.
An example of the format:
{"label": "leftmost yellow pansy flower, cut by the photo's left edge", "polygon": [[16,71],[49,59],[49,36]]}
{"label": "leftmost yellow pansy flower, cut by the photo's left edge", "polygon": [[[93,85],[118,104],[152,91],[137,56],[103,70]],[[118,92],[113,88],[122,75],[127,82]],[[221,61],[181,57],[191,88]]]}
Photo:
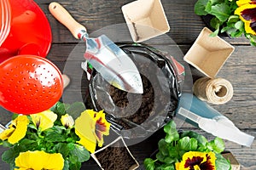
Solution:
{"label": "leftmost yellow pansy flower, cut by the photo's left edge", "polygon": [[23,139],[26,135],[27,125],[29,120],[26,116],[17,116],[15,120],[11,122],[9,128],[0,133],[0,139],[8,139],[10,144],[15,144]]}

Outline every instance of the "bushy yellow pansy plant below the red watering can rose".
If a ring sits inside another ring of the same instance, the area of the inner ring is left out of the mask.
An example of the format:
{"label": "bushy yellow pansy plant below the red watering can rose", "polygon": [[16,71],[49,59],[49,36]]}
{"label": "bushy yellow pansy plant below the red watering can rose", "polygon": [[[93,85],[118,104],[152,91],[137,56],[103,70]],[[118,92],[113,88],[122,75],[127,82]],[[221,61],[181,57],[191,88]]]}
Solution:
{"label": "bushy yellow pansy plant below the red watering can rose", "polygon": [[[74,121],[73,116],[79,118]],[[96,143],[102,146],[110,127],[103,111],[86,110],[81,102],[58,102],[49,111],[14,117],[0,133],[0,144],[9,148],[3,152],[3,161],[17,170],[79,170]]]}

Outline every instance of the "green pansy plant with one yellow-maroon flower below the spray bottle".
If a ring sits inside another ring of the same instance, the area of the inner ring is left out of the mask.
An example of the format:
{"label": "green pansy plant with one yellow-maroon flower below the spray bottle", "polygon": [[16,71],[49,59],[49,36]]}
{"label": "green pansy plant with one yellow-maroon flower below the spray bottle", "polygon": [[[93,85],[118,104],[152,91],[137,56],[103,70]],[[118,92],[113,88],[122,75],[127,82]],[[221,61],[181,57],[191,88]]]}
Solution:
{"label": "green pansy plant with one yellow-maroon flower below the spray bottle", "polygon": [[199,133],[184,131],[178,133],[175,122],[164,127],[165,139],[160,139],[155,159],[146,158],[147,170],[230,170],[230,162],[224,159],[224,141],[216,138],[211,141]]}

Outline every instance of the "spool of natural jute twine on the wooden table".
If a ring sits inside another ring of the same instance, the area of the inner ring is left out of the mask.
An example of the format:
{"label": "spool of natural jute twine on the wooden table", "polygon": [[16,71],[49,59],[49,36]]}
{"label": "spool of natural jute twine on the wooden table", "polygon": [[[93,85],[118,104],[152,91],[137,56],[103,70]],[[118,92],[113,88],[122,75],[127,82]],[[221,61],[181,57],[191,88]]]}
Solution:
{"label": "spool of natural jute twine on the wooden table", "polygon": [[193,93],[201,100],[222,105],[233,97],[232,84],[224,78],[201,77],[193,85]]}

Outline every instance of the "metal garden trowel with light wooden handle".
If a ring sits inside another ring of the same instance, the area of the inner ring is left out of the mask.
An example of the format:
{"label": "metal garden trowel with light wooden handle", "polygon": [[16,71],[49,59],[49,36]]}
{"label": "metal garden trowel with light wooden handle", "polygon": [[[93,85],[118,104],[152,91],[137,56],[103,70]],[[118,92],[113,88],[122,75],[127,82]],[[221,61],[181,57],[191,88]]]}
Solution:
{"label": "metal garden trowel with light wooden handle", "polygon": [[80,25],[59,3],[50,3],[49,11],[73,33],[73,37],[86,42],[84,58],[102,77],[121,90],[143,94],[143,82],[136,65],[108,37],[90,38],[86,28]]}

